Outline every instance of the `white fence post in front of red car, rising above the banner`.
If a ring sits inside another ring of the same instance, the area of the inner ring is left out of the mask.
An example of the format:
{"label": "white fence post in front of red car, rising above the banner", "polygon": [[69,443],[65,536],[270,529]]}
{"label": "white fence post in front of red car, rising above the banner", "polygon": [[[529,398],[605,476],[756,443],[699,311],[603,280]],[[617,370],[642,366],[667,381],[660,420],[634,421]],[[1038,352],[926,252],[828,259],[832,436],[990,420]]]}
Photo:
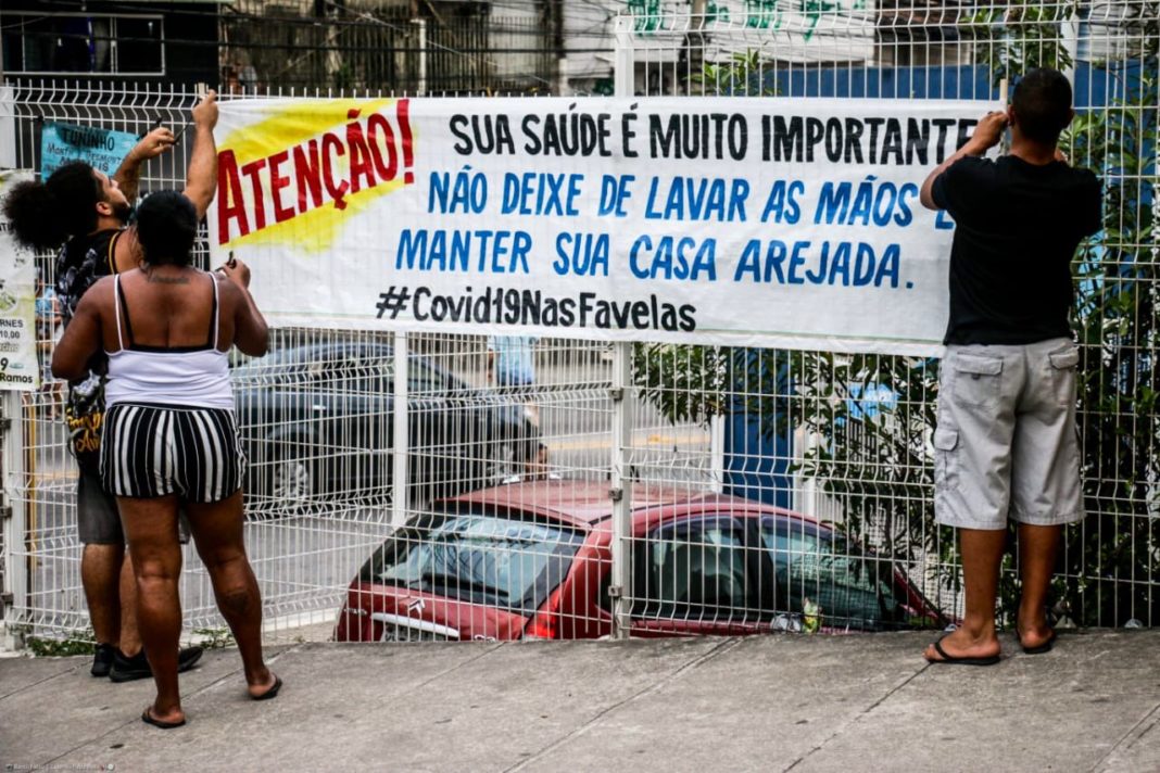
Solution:
{"label": "white fence post in front of red car, rising above the banner", "polygon": [[[633,93],[632,20],[616,17],[616,96]],[[612,637],[632,632],[632,343],[612,344]]]}

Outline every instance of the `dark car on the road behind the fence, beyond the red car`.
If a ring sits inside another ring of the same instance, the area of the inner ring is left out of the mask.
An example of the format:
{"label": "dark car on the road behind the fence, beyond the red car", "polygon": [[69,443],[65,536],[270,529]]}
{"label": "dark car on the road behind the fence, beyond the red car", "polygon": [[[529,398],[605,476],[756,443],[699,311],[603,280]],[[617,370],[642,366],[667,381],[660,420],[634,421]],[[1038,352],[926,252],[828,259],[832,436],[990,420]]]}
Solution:
{"label": "dark car on the road behind the fence, beyond the red car", "polygon": [[[382,503],[392,479],[394,357],[382,341],[283,347],[233,369],[251,510],[335,499]],[[407,359],[411,501],[499,482],[535,455],[524,407]]]}

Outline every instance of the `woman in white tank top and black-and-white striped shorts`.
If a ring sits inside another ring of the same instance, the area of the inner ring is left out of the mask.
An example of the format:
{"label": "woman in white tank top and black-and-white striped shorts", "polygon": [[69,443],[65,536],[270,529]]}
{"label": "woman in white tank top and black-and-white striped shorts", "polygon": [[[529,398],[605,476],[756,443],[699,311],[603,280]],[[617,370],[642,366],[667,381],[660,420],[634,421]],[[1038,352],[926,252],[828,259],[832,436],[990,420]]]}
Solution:
{"label": "woman in white tank top and black-and-white striped shorts", "polygon": [[146,198],[137,212],[142,267],[93,285],[52,358],[53,374],[72,378],[101,349],[109,356],[101,479],[125,526],[138,625],[157,683],[142,720],[160,728],[186,723],[176,661],[179,509],[238,642],[249,697],[267,700],[282,687],[262,658],[262,604],[242,541],[244,457],[226,360],[232,345],[266,353],[266,320],[245,264],[223,267],[220,278],[191,265],[196,234],[184,196]]}

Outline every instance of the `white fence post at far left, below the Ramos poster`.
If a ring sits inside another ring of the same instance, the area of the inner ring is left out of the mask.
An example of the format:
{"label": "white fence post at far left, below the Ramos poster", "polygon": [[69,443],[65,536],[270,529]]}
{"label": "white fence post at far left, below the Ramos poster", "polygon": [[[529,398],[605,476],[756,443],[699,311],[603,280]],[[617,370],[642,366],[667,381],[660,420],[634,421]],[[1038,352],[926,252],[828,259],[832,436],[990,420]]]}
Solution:
{"label": "white fence post at far left, below the Ramos poster", "polygon": [[3,585],[0,586],[0,618],[3,619],[3,636],[0,650],[13,649],[17,644],[13,610],[28,608],[28,557],[24,549],[28,512],[26,510],[27,481],[24,480],[24,443],[21,422],[20,392],[2,392],[3,445],[0,465],[3,466],[3,499],[0,502],[0,523],[3,524]]}

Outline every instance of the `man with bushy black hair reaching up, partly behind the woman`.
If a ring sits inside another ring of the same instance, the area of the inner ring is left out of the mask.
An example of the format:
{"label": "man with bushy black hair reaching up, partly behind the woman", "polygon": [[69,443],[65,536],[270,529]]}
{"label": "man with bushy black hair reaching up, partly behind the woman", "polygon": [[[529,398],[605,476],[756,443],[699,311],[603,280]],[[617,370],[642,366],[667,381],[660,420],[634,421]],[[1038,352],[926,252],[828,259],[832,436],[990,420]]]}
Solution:
{"label": "man with bushy black hair reaching up, partly behind the woman", "polygon": [[[217,104],[212,92],[194,108],[193,118],[194,148],[184,192],[201,218],[217,188]],[[111,177],[84,161],[71,161],[43,182],[13,187],[5,198],[5,214],[19,242],[42,251],[60,249],[56,289],[65,326],[81,296],[97,279],[137,267],[140,256],[129,219],[140,167],[167,152],[174,141],[168,129],[154,129],[129,152]],[[94,362],[90,367],[86,378],[68,385],[65,415],[79,467],[77,526],[85,546],[81,584],[97,644],[92,673],[128,681],[150,677],[151,669],[137,633],[136,584],[116,501],[101,488],[99,475],[103,363]],[[196,647],[182,650],[183,670],[193,666],[201,652]]]}

